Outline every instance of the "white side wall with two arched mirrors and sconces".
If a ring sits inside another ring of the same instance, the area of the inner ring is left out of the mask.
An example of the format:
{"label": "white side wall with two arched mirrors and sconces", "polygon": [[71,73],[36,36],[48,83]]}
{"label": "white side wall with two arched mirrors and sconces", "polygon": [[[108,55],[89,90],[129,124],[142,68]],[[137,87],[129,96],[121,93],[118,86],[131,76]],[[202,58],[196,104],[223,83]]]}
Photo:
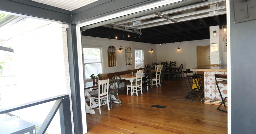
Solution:
{"label": "white side wall with two arched mirrors and sconces", "polygon": [[[156,44],[140,43],[134,41],[121,41],[115,39],[104,39],[104,38],[94,38],[89,36],[82,36],[82,45],[83,46],[101,46],[102,55],[103,55],[103,73],[111,73],[118,71],[126,71],[135,69],[135,60],[134,60],[134,48],[144,49],[144,63],[145,65],[156,62]],[[117,55],[117,66],[108,67],[108,55],[107,50],[109,46],[114,46],[116,48]],[[119,51],[120,46],[123,48],[123,52]],[[132,49],[132,65],[125,65],[125,48],[130,47]],[[152,53],[150,48],[154,49]]]}

